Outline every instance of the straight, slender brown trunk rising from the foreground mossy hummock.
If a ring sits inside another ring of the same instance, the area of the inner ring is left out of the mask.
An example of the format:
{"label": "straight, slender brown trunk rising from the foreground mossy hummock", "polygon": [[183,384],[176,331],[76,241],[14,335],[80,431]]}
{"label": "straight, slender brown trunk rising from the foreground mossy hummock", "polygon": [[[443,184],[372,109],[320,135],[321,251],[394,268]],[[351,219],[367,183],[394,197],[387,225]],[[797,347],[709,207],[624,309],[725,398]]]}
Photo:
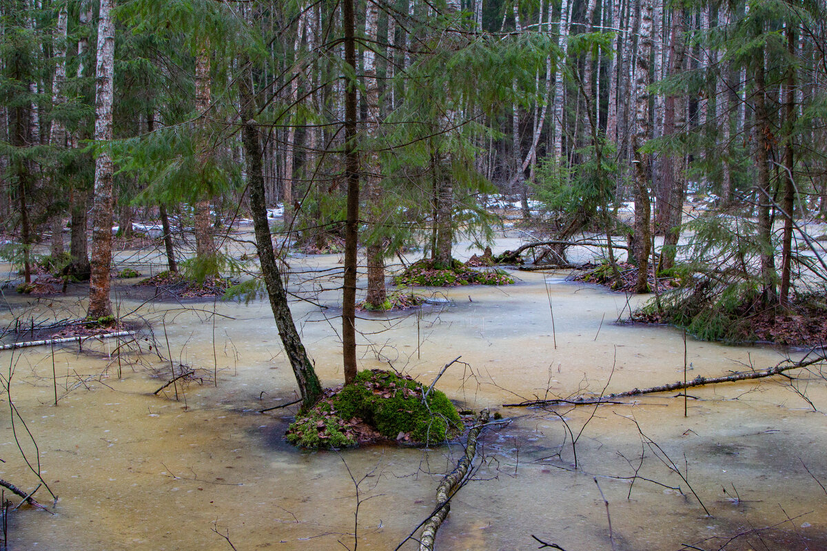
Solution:
{"label": "straight, slender brown trunk rising from the foreground mossy hummock", "polygon": [[[345,63],[356,74],[356,17],[353,0],[342,2]],[[356,247],[359,224],[359,151],[356,149],[356,83],[345,91],[345,179],[347,220],[345,221],[345,273],[342,284],[342,359],[345,384],[356,378]]]}

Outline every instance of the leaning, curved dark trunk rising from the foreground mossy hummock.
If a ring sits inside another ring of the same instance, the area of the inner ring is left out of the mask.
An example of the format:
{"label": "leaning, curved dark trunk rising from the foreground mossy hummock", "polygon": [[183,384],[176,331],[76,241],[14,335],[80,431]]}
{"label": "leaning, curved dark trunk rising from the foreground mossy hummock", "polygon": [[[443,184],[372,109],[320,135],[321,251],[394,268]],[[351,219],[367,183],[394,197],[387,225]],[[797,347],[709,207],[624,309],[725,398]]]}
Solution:
{"label": "leaning, curved dark trunk rising from the foreground mossy hummock", "polygon": [[[348,0],[351,1],[351,0]],[[252,69],[246,60],[246,69],[238,78],[238,92],[241,100],[241,138],[246,159],[247,186],[250,190],[250,207],[256,230],[256,248],[261,262],[261,274],[264,278],[267,295],[270,297],[270,309],[273,311],[275,325],[279,328],[284,353],[290,360],[299,392],[302,397],[302,410],[308,411],[322,397],[322,385],[308,359],[304,344],[296,331],[293,315],[287,303],[287,293],[281,282],[279,267],[275,264],[273,241],[270,235],[270,223],[267,221],[265,203],[264,175],[261,167],[261,141],[254,120],[256,102],[252,92]]]}

